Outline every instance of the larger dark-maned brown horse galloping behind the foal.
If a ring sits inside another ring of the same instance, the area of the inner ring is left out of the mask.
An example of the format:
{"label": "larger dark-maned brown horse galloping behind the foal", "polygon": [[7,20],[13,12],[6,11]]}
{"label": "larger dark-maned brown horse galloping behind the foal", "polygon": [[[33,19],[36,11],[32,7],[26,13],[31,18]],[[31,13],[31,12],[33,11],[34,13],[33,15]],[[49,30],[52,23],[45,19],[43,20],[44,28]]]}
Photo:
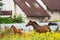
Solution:
{"label": "larger dark-maned brown horse galloping behind the foal", "polygon": [[32,25],[34,30],[36,30],[36,32],[39,32],[39,33],[46,33],[47,31],[49,32],[51,31],[49,26],[40,26],[36,22],[31,20],[28,22],[26,26],[30,26],[30,25]]}

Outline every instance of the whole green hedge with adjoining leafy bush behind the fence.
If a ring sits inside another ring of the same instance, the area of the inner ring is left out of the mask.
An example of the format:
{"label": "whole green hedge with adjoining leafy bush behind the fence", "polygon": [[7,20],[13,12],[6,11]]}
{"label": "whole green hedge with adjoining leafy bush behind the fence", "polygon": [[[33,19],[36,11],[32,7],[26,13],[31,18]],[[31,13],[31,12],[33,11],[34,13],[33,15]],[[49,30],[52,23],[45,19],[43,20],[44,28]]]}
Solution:
{"label": "whole green hedge with adjoining leafy bush behind the fence", "polygon": [[4,18],[0,17],[0,24],[3,24],[3,23],[22,23],[22,22],[24,22],[22,16],[18,16],[18,17],[14,16],[14,19],[10,18],[10,17],[4,17]]}

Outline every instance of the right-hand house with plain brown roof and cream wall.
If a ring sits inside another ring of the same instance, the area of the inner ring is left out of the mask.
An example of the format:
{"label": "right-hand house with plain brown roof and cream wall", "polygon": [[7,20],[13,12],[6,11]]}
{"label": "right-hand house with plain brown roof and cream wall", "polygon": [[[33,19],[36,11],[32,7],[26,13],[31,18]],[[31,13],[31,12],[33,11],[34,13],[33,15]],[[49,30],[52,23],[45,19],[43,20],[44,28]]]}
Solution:
{"label": "right-hand house with plain brown roof and cream wall", "polygon": [[41,0],[46,6],[46,11],[51,16],[50,20],[60,19],[60,0]]}

